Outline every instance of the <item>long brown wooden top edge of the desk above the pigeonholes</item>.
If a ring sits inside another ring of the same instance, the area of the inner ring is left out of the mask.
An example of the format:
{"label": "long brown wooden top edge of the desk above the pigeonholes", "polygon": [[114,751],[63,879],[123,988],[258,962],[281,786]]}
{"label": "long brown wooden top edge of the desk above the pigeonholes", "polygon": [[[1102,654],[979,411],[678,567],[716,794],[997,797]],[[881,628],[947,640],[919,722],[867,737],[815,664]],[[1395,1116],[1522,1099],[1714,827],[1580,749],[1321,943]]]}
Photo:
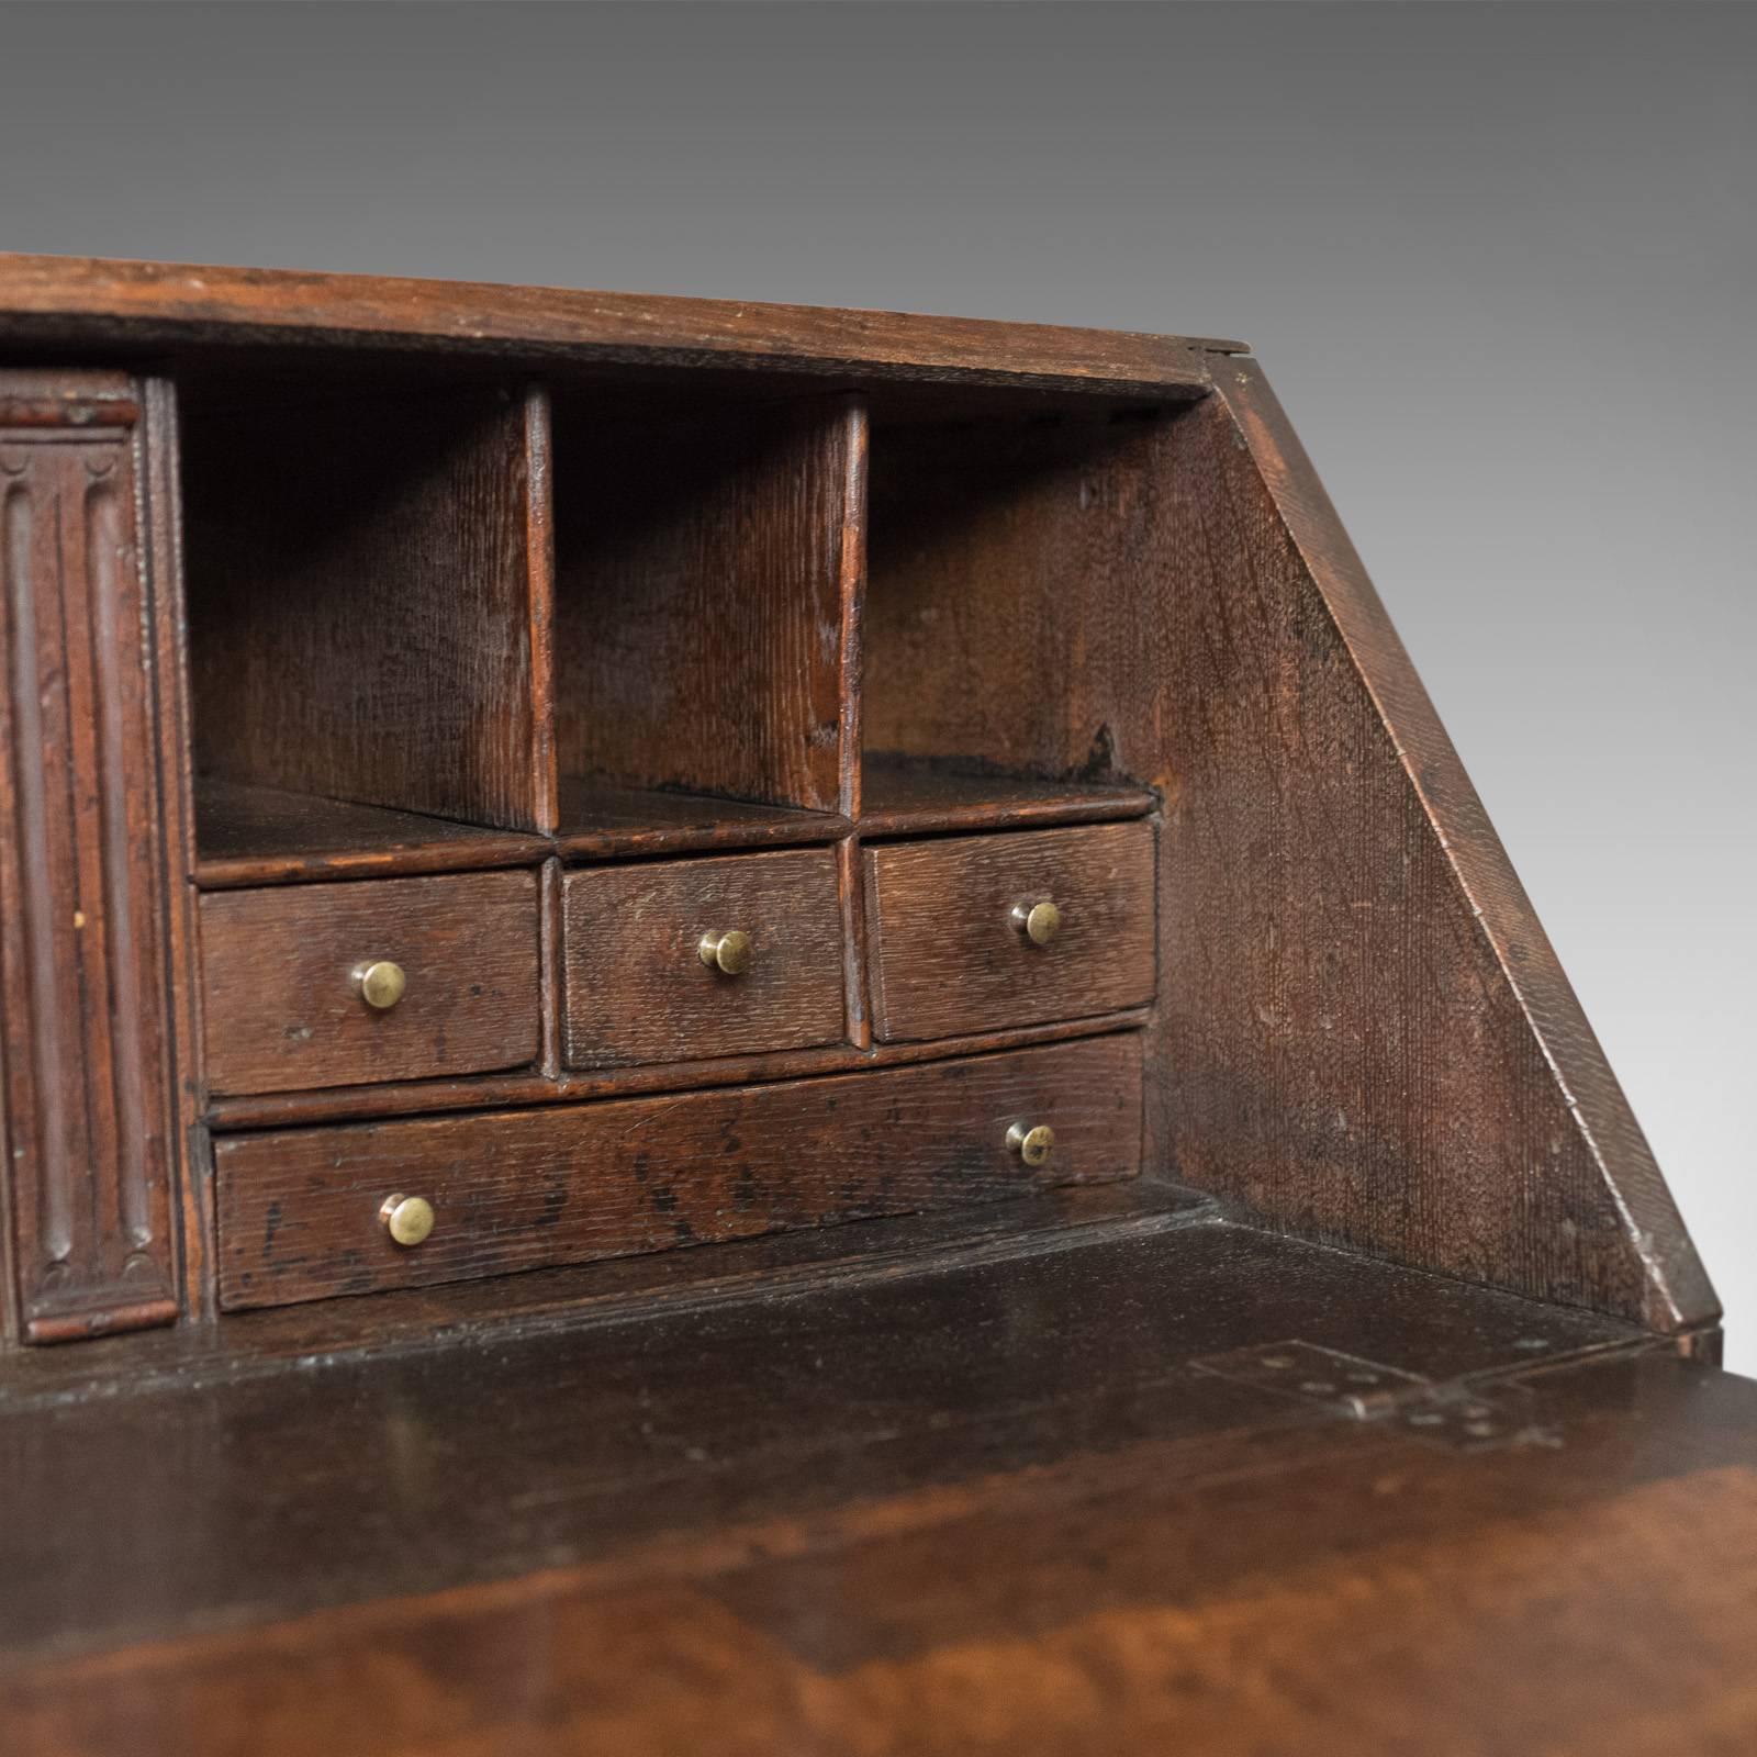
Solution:
{"label": "long brown wooden top edge of the desk above the pigeonholes", "polygon": [[0,341],[329,343],[1110,394],[1209,388],[1242,343],[982,318],[0,253]]}

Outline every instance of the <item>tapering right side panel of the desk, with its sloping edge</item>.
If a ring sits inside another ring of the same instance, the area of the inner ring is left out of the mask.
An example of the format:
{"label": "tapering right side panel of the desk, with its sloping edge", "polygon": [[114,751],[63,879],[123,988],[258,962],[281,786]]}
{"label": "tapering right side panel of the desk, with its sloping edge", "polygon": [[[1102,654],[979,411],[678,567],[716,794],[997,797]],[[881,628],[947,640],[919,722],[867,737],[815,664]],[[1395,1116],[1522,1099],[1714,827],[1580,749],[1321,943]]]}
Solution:
{"label": "tapering right side panel of the desk, with its sloping edge", "polygon": [[1163,1139],[1274,1225],[1678,1330],[1713,1290],[1254,360],[1172,429]]}

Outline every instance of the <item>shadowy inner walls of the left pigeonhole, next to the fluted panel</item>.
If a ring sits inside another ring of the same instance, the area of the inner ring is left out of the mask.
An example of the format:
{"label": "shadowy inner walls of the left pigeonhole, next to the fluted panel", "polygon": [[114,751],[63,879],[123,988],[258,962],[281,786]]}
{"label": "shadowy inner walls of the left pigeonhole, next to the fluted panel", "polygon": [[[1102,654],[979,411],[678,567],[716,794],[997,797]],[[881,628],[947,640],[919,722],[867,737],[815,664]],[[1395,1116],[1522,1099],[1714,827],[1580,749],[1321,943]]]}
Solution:
{"label": "shadowy inner walls of the left pigeonhole, next to the fluted panel", "polygon": [[197,768],[553,828],[532,480],[529,409],[494,387],[192,409]]}

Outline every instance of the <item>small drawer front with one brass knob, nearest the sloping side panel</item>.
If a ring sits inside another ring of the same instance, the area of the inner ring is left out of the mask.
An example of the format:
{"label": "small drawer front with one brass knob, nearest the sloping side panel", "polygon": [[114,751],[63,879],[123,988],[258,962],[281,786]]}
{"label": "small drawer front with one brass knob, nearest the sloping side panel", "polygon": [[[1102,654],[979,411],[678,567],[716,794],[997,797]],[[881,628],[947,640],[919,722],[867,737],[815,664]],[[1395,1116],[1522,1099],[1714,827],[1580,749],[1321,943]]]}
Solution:
{"label": "small drawer front with one brass knob, nearest the sloping side panel", "polygon": [[[884,843],[864,866],[873,1028],[886,1042],[1153,1000],[1147,822]],[[1040,903],[1059,914],[1044,944],[1026,926]]]}

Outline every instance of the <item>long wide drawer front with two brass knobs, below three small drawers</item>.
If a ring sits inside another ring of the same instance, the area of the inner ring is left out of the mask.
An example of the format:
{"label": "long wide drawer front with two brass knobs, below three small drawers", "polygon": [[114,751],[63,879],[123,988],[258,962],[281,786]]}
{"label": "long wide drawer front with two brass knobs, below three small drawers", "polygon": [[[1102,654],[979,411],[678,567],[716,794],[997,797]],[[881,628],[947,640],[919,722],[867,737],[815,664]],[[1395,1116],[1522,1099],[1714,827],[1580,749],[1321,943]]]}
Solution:
{"label": "long wide drawer front with two brass knobs, below three small drawers", "polygon": [[[1014,1124],[1052,1130],[1047,1158],[1028,1163]],[[994,1202],[1130,1177],[1139,1156],[1135,1033],[682,1098],[237,1135],[214,1146],[220,1300],[285,1305]],[[390,1197],[404,1214],[427,1204],[422,1242],[392,1240]]]}

